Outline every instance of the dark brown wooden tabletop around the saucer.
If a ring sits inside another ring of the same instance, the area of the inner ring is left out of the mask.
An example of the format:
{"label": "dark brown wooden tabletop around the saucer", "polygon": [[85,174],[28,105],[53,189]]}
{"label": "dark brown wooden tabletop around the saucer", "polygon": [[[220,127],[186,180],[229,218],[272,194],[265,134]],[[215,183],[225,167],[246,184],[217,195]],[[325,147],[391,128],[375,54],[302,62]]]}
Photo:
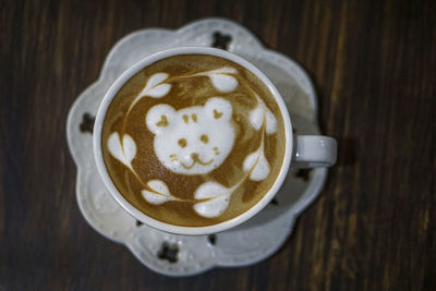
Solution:
{"label": "dark brown wooden tabletop around the saucer", "polygon": [[[75,202],[65,121],[122,36],[223,16],[300,62],[339,160],[255,266],[157,275]],[[435,1],[1,1],[0,290],[436,290]]]}

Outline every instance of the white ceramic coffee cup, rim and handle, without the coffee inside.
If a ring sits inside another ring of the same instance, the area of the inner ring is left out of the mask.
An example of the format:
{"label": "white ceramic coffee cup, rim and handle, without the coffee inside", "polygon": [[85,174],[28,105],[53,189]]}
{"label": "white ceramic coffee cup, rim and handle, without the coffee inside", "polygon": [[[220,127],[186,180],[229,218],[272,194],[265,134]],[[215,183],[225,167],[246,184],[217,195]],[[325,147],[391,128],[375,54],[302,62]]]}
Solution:
{"label": "white ceramic coffee cup, rim and handle, without the coffee inside", "polygon": [[[175,226],[175,225],[170,225],[166,223],[159,220],[156,220],[146,214],[140,211],[137,208],[135,208],[132,204],[130,204],[123,195],[118,191],[117,186],[113,184],[112,180],[109,177],[108,170],[105,166],[105,161],[102,158],[102,151],[101,151],[101,131],[102,131],[102,124],[105,121],[105,116],[108,110],[108,107],[110,102],[112,101],[113,97],[117,95],[117,93],[120,90],[120,88],[132,77],[134,76],[137,72],[140,72],[142,69],[145,66],[173,56],[178,54],[210,54],[210,56],[216,56],[219,58],[228,59],[230,61],[233,61],[246,70],[251,71],[253,74],[255,74],[259,80],[263,81],[263,83],[269,88],[271,94],[274,95],[277,105],[280,108],[280,112],[283,119],[283,124],[284,124],[284,131],[286,131],[286,153],[284,153],[284,158],[281,165],[281,169],[279,174],[277,175],[277,179],[270,190],[264,195],[264,197],[255,204],[252,208],[246,210],[245,213],[226,220],[223,222],[213,225],[213,226],[205,226],[205,227],[181,227],[181,226]],[[94,124],[94,156],[95,156],[95,161],[97,165],[98,172],[111,193],[111,195],[114,197],[114,199],[128,211],[130,213],[134,218],[137,220],[142,221],[143,223],[146,223],[149,227],[156,228],[161,231],[166,232],[171,232],[175,234],[184,234],[184,235],[199,235],[199,234],[210,234],[210,233],[217,233],[220,231],[225,231],[228,229],[231,229],[238,225],[241,225],[242,222],[249,220],[252,218],[254,215],[256,215],[258,211],[261,211],[265,206],[268,205],[268,203],[274,198],[274,196],[277,194],[279,191],[281,184],[283,183],[288,170],[291,166],[291,161],[293,163],[293,167],[305,167],[305,168],[316,168],[316,167],[330,167],[336,162],[336,156],[337,156],[337,143],[334,138],[328,137],[328,136],[322,136],[322,135],[296,135],[294,136],[292,133],[292,124],[291,124],[291,119],[289,117],[288,109],[284,105],[284,101],[280,95],[280,93],[277,90],[277,88],[272,85],[272,83],[269,81],[269,78],[261,72],[256,66],[254,66],[252,63],[246,61],[245,59],[235,56],[233,53],[230,53],[225,50],[220,49],[215,49],[215,48],[208,48],[208,47],[180,47],[180,48],[174,48],[174,49],[169,49],[165,51],[160,51],[158,53],[152,54],[141,61],[138,61],[136,64],[131,66],[129,70],[126,70],[120,77],[116,80],[116,82],[110,86],[108,92],[106,93],[105,98],[102,99],[97,117],[95,120]]]}

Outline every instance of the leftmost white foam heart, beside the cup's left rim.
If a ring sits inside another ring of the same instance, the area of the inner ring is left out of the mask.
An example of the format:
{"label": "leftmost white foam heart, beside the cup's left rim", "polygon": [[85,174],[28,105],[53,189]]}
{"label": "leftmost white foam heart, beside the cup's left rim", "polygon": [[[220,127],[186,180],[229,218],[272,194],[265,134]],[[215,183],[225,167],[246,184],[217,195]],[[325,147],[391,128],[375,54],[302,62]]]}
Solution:
{"label": "leftmost white foam heart, beside the cup's left rim", "polygon": [[120,142],[118,132],[112,133],[108,138],[109,153],[124,166],[132,169],[132,159],[136,155],[136,144],[129,134],[123,136],[123,145]]}

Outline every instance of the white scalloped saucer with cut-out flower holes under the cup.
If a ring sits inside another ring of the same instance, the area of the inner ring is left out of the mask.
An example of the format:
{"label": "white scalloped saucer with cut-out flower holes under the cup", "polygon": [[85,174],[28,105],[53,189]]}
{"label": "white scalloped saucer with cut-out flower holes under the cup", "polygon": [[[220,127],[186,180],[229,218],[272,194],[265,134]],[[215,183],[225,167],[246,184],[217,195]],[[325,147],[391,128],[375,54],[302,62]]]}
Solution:
{"label": "white scalloped saucer with cut-out flower holes under the cup", "polygon": [[[77,166],[76,198],[87,222],[106,238],[124,244],[148,268],[168,276],[191,276],[214,267],[255,264],[286,242],[295,218],[319,194],[326,169],[312,170],[306,179],[291,169],[275,203],[247,222],[215,237],[165,233],[136,220],[111,197],[94,162],[92,134],[81,131],[85,114],[95,117],[111,83],[136,61],[159,50],[181,46],[211,46],[216,34],[230,37],[228,50],[258,66],[286,99],[298,134],[319,134],[314,87],[293,60],[263,47],[243,26],[222,19],[205,19],[178,31],[149,28],[122,38],[110,51],[100,76],[72,106],[66,124],[68,143]],[[172,258],[166,252],[172,253]]]}

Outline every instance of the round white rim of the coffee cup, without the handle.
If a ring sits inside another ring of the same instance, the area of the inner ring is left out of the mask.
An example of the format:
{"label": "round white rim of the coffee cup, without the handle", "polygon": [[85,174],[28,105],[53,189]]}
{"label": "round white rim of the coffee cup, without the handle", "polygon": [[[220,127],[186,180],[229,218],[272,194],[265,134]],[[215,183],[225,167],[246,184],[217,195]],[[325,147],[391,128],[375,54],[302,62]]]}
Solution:
{"label": "round white rim of the coffee cup, without the handle", "polygon": [[[204,227],[183,227],[183,226],[175,226],[170,225],[167,222],[159,221],[155,218],[152,218],[144,214],[143,211],[138,210],[132,204],[130,204],[124,196],[119,192],[117,186],[113,184],[105,165],[105,160],[102,158],[102,150],[101,150],[101,131],[102,131],[102,123],[106,118],[107,110],[114,98],[117,93],[121,89],[121,87],[137,72],[144,69],[147,65],[153,64],[154,62],[166,59],[173,56],[180,54],[209,54],[219,58],[223,58],[235,62],[246,70],[251,71],[255,74],[261,81],[267,86],[267,88],[271,92],[277,105],[279,106],[281,117],[284,123],[284,143],[288,145],[284,147],[284,157],[283,162],[281,163],[280,172],[277,175],[276,181],[274,182],[272,186],[268,190],[268,192],[262,197],[262,199],[256,203],[253,207],[244,211],[243,214],[233,217],[229,220],[211,225],[211,226],[204,226]],[[228,229],[231,229],[238,225],[241,225],[255,216],[259,213],[264,207],[268,205],[268,203],[274,198],[277,194],[281,184],[283,183],[288,170],[291,165],[292,158],[292,149],[293,149],[293,138],[292,138],[292,123],[289,117],[289,112],[287,106],[281,97],[281,94],[278,92],[276,86],[272,85],[272,82],[254,64],[249,62],[247,60],[243,59],[240,56],[234,53],[228,52],[226,50],[209,48],[209,47],[179,47],[172,48],[168,50],[162,50],[156,53],[153,53],[138,62],[134,65],[124,71],[109,87],[105,97],[102,98],[97,116],[94,123],[94,131],[93,131],[93,149],[94,149],[94,159],[97,166],[97,171],[105,183],[106,187],[109,190],[109,193],[112,197],[121,205],[121,207],[131,214],[135,219],[140,220],[141,222],[146,223],[147,226],[162,230],[166,232],[174,233],[174,234],[183,234],[183,235],[202,235],[202,234],[211,234],[221,232]]]}

